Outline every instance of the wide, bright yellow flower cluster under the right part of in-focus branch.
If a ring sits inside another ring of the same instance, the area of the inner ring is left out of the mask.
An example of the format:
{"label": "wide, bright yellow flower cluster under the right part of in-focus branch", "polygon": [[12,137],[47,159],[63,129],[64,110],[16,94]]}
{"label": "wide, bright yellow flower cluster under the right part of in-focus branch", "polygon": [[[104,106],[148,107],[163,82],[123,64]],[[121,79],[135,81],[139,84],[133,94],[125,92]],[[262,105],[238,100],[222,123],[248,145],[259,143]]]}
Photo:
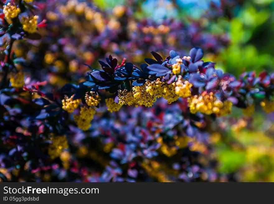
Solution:
{"label": "wide, bright yellow flower cluster under the right part of in-focus branch", "polygon": [[193,114],[196,112],[201,112],[207,115],[215,113],[219,117],[231,113],[232,108],[232,102],[221,102],[212,92],[209,94],[203,92],[201,96],[192,96],[188,99],[188,103],[190,112]]}

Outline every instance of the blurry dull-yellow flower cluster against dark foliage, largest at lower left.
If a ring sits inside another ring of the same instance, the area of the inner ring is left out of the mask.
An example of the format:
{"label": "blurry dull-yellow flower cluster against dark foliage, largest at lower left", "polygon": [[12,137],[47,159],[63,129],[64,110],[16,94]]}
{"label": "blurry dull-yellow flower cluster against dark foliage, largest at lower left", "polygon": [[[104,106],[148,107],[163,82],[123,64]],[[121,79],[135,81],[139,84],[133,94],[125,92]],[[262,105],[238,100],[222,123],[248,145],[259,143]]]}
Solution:
{"label": "blurry dull-yellow flower cluster against dark foliage, largest at lower left", "polygon": [[49,146],[48,153],[51,159],[55,159],[59,157],[63,149],[67,149],[69,147],[68,141],[65,135],[55,136],[50,138],[50,140],[52,143]]}

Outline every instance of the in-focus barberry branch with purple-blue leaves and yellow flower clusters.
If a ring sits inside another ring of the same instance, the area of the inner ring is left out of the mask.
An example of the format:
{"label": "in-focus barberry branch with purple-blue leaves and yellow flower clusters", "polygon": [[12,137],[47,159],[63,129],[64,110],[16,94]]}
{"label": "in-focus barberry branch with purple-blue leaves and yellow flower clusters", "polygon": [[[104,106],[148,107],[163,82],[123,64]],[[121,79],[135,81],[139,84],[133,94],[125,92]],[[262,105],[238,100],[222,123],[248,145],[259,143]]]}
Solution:
{"label": "in-focus barberry branch with purple-blue leaves and yellow flower clusters", "polygon": [[[202,61],[203,51],[200,48],[192,48],[190,56],[182,58],[172,50],[165,60],[158,53],[151,53],[156,60],[146,58],[147,64],[141,64],[140,68],[129,62],[117,67],[117,59],[111,55],[106,58],[108,64],[99,61],[102,70],[88,72],[87,81],[77,88],[66,85],[71,93],[72,89],[75,93],[74,100],[63,100],[64,107],[78,104],[79,98],[84,97],[78,90],[83,92],[87,87],[86,90],[97,92],[96,98],[105,98],[111,112],[119,111],[123,105],[151,107],[161,97],[169,104],[179,97],[187,98],[190,114],[200,112],[220,117],[230,114],[232,105],[235,105],[252,115],[253,104],[259,101],[267,113],[273,111],[273,73],[262,72],[258,77],[254,72],[243,73],[237,80],[232,74],[215,69],[215,63]],[[102,90],[112,94],[112,97],[103,96]],[[96,108],[94,105],[98,103],[91,104],[86,100],[83,108],[90,105]]]}

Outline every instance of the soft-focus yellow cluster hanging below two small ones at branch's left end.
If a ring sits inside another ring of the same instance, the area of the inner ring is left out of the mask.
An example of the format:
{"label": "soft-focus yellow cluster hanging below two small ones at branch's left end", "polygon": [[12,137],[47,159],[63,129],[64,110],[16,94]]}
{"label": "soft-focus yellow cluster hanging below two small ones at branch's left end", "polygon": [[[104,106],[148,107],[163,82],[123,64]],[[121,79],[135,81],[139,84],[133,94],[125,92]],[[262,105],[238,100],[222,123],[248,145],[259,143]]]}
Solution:
{"label": "soft-focus yellow cluster hanging below two small ones at branch's left end", "polygon": [[73,116],[78,128],[88,130],[95,113],[96,111],[92,107],[81,107],[80,115]]}

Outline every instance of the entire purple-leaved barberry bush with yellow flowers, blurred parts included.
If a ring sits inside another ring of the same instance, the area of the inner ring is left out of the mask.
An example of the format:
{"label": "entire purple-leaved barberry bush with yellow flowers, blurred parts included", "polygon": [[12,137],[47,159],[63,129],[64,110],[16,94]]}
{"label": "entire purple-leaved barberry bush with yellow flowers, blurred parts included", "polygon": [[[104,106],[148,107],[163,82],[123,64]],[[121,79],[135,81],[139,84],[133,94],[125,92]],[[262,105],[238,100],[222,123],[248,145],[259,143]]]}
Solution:
{"label": "entire purple-leaved barberry bush with yellow flowers, blurred parts included", "polygon": [[[225,150],[227,127],[248,129],[256,110],[272,116],[274,73],[234,76],[203,61],[202,49],[212,58],[231,46],[225,33],[195,19],[140,20],[133,2],[111,12],[0,3],[2,181],[237,181],[214,145]],[[204,19],[231,17],[229,2],[211,7]]]}

